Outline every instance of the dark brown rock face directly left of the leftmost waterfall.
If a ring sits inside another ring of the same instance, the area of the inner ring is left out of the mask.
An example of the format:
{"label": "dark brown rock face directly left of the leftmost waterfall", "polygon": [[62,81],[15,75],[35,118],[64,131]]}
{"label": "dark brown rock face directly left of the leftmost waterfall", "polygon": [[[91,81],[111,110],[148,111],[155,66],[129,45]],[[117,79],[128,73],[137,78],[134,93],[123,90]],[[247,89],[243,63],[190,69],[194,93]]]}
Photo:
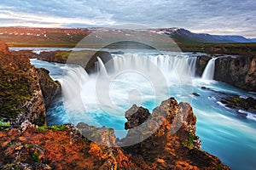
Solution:
{"label": "dark brown rock face directly left of the leftmost waterfall", "polygon": [[61,94],[61,83],[58,81],[53,81],[49,77],[49,71],[44,68],[37,69],[39,84],[44,96],[44,105],[46,108],[55,99],[56,96]]}

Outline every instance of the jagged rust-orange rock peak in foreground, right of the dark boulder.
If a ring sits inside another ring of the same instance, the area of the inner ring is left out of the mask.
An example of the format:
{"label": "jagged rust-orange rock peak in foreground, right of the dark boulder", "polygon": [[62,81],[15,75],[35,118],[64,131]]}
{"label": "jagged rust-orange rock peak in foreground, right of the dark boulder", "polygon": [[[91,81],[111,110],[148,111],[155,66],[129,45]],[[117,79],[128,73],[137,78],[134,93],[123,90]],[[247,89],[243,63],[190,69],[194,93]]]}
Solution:
{"label": "jagged rust-orange rock peak in foreground, right of the dark boulder", "polygon": [[[132,109],[133,108],[133,109]],[[142,108],[133,115],[141,114]],[[195,135],[196,117],[187,103],[177,104],[173,98],[156,107],[146,122],[129,129],[125,139],[119,140],[125,154],[141,169],[229,169],[217,157],[201,150],[201,141]],[[131,122],[128,121],[128,122]],[[134,120],[137,123],[136,120]],[[148,133],[150,135],[148,135]],[[144,140],[129,145],[137,139]]]}

